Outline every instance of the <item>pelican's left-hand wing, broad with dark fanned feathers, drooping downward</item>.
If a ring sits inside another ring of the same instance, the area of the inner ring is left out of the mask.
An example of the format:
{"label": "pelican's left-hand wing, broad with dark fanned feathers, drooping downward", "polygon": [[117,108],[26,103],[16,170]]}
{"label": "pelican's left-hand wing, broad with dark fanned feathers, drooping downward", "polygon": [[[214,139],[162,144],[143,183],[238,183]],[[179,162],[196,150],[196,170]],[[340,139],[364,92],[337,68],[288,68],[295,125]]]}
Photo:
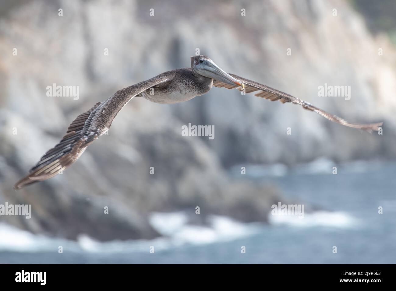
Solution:
{"label": "pelican's left-hand wing, broad with dark fanned feathers, drooping downward", "polygon": [[169,71],[121,89],[106,101],[96,103],[91,109],[77,116],[61,141],[48,150],[30,169],[29,175],[18,181],[14,188],[21,189],[28,184],[47,180],[69,167],[90,143],[109,129],[118,112],[129,100],[153,86],[168,82],[173,75],[173,72]]}

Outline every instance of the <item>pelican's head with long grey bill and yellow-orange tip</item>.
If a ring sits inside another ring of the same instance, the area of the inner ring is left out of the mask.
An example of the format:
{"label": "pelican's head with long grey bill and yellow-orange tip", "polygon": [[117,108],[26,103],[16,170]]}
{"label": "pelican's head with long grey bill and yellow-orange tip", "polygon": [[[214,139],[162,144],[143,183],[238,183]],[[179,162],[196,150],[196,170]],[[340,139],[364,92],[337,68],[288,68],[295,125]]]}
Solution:
{"label": "pelican's head with long grey bill and yellow-orange tip", "polygon": [[210,58],[204,55],[196,55],[191,57],[191,69],[196,74],[215,79],[230,85],[238,85],[245,87],[243,83],[236,80],[234,77],[227,74],[219,68]]}

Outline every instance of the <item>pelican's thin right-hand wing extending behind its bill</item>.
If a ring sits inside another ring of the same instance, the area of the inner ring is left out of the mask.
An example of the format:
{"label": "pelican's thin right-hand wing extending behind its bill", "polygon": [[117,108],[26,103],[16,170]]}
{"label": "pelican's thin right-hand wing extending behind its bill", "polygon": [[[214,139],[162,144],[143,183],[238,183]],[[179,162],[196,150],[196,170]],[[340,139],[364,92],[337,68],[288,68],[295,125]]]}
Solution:
{"label": "pelican's thin right-hand wing extending behind its bill", "polygon": [[[307,109],[307,110],[311,110],[313,112],[318,113],[320,116],[323,116],[324,118],[327,118],[328,120],[337,122],[339,124],[342,124],[343,126],[349,126],[349,127],[354,127],[354,128],[358,128],[358,129],[364,129],[368,132],[371,133],[371,131],[375,130],[378,131],[379,127],[382,125],[382,122],[379,123],[372,123],[372,124],[355,124],[355,123],[350,123],[346,120],[344,120],[341,117],[338,117],[337,115],[333,115],[330,114],[318,107],[313,106],[312,104],[305,102],[297,97],[291,96],[287,93],[284,93],[282,91],[276,90],[274,88],[265,86],[263,84],[242,78],[240,76],[234,75],[234,74],[230,74],[231,76],[233,76],[234,78],[240,80],[240,82],[244,83],[245,85],[245,89],[246,89],[246,93],[251,93],[254,91],[258,91],[257,93],[255,93],[255,96],[259,96],[259,97],[263,97],[265,99],[269,99],[271,101],[276,101],[279,100],[282,103],[286,103],[286,102],[291,102],[297,105],[301,105],[303,108]],[[216,87],[225,87],[227,89],[232,89],[232,88],[236,88],[238,87],[237,85],[230,85],[230,84],[226,84],[217,80],[213,80],[213,86]],[[241,87],[238,87],[238,89],[242,89]]]}

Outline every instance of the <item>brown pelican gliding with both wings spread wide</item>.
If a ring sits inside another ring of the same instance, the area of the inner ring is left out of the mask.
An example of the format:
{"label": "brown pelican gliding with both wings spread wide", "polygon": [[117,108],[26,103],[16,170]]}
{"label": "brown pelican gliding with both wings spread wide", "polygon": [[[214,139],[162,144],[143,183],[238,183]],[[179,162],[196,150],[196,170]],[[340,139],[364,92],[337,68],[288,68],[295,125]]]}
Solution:
{"label": "brown pelican gliding with both wings spread wide", "polygon": [[[87,146],[103,135],[118,112],[133,97],[143,97],[155,103],[179,103],[188,101],[196,96],[204,95],[212,86],[227,89],[238,88],[246,93],[257,91],[255,96],[282,103],[290,102],[316,112],[328,120],[366,131],[378,131],[381,123],[353,124],[329,114],[308,102],[278,91],[263,84],[242,78],[234,74],[227,74],[211,59],[204,55],[191,57],[191,68],[179,68],[164,72],[149,80],[118,90],[112,97],[96,103],[88,111],[80,114],[70,124],[66,135],[61,141],[42,156],[40,161],[30,169],[29,175],[15,184],[15,189],[26,185],[44,181],[63,171],[82,155]],[[154,94],[151,88],[154,89]]]}

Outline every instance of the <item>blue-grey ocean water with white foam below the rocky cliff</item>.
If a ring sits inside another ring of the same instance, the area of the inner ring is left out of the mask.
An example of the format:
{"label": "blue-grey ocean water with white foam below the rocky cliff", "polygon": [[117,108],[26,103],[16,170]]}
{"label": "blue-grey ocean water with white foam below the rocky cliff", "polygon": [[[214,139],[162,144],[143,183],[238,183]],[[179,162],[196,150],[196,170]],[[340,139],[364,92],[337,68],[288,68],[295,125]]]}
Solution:
{"label": "blue-grey ocean water with white foam below the rocky cliff", "polygon": [[[337,175],[334,165],[320,159],[293,168],[246,167],[245,179],[272,183],[293,203],[314,209],[303,219],[268,214],[269,224],[243,224],[214,216],[203,227],[188,225],[183,212],[153,213],[150,221],[164,238],[106,243],[0,224],[0,263],[396,263],[396,163],[337,165]],[[237,179],[239,171],[230,175]]]}

